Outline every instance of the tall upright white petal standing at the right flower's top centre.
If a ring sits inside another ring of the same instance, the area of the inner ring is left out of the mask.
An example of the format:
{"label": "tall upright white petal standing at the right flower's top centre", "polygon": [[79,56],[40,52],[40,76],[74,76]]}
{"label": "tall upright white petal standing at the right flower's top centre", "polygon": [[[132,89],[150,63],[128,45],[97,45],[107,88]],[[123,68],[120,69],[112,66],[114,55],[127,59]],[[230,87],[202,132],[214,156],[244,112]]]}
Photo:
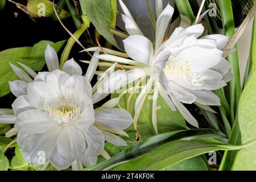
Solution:
{"label": "tall upright white petal standing at the right flower's top centre", "polygon": [[170,19],[172,18],[173,12],[173,7],[168,4],[156,21],[156,50],[159,49],[162,44],[166,28],[168,27]]}

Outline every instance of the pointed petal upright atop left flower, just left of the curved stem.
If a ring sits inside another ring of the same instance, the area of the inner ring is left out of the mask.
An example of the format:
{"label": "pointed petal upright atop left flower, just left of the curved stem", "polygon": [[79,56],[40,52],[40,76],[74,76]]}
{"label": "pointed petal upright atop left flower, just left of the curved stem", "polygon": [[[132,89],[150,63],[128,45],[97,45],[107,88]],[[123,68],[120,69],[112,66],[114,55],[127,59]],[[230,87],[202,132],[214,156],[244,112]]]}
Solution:
{"label": "pointed petal upright atop left flower, just left of the curved stem", "polygon": [[48,67],[49,72],[54,71],[55,69],[59,69],[59,59],[58,55],[54,48],[47,45],[46,51],[44,52],[44,57],[46,59],[46,65]]}

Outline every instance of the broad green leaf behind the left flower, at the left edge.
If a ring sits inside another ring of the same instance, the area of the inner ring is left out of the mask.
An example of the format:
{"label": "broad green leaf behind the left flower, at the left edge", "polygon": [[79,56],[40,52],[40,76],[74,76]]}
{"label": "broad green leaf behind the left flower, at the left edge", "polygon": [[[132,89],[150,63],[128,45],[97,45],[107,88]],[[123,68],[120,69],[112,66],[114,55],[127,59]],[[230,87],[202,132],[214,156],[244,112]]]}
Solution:
{"label": "broad green leaf behind the left flower, at the left edge", "polygon": [[18,61],[19,63],[23,63],[31,67],[34,71],[40,71],[45,64],[44,51],[47,44],[49,43],[55,51],[58,52],[65,42],[66,41],[63,40],[58,43],[53,43],[42,40],[33,47],[11,48],[0,52],[0,97],[5,96],[10,92],[8,81],[18,79],[11,69],[9,62],[19,66],[17,64]]}

